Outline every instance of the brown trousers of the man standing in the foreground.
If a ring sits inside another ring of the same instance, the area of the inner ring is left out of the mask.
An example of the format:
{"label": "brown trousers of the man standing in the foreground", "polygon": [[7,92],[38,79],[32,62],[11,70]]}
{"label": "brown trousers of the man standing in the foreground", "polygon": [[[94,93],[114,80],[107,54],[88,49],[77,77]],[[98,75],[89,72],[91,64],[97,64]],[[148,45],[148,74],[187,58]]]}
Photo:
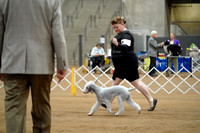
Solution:
{"label": "brown trousers of the man standing in the foreground", "polygon": [[26,133],[26,104],[31,88],[33,133],[50,133],[52,75],[4,74],[7,133]]}

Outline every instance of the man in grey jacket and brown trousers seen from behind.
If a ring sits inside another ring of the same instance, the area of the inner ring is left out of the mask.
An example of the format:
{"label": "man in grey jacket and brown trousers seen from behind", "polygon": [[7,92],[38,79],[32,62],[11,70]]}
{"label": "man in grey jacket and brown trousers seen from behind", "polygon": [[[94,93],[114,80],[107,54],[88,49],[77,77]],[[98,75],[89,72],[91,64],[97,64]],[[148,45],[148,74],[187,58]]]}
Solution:
{"label": "man in grey jacket and brown trousers seen from behind", "polygon": [[0,59],[7,133],[26,132],[31,88],[33,133],[49,133],[54,54],[60,82],[68,68],[60,0],[1,0]]}

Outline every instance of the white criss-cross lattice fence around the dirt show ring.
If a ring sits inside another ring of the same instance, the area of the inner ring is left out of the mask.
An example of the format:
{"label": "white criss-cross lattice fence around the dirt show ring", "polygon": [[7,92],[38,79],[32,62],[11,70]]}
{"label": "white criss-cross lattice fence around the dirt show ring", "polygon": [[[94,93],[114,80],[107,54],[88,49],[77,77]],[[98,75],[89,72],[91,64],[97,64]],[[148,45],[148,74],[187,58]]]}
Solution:
{"label": "white criss-cross lattice fence around the dirt show ring", "polygon": [[[151,77],[149,76],[149,72],[144,71],[142,66],[138,68],[140,72],[140,80],[147,86],[147,88],[152,93],[157,93],[161,90],[165,91],[168,94],[171,94],[173,91],[178,90],[183,94],[186,94],[189,91],[194,91],[197,94],[200,94],[200,68],[199,68],[200,59],[195,60],[195,66],[192,67],[192,72],[188,71],[185,67],[182,67],[177,73],[171,74],[170,77],[166,77],[166,71],[171,68],[167,68],[165,71],[160,72],[156,69],[158,76]],[[192,64],[193,64],[192,63]],[[95,74],[93,71],[97,70],[98,73]],[[67,90],[71,87],[72,76],[75,77],[74,84],[75,87],[82,90],[85,83],[88,81],[95,81],[98,79],[98,85],[102,87],[111,86],[112,83],[112,74],[107,74],[108,72],[113,71],[113,67],[109,67],[106,71],[102,71],[99,67],[95,67],[93,70],[89,71],[85,66],[81,66],[74,71],[74,75],[71,75],[72,70],[68,70],[68,74],[63,79],[60,84],[57,84],[55,78],[53,79],[54,85],[52,86],[52,90],[55,88],[60,88],[62,90]],[[187,72],[181,72],[185,69]],[[85,72],[85,73],[84,73]],[[55,76],[55,75],[54,75]],[[134,88],[127,80],[123,80],[121,85],[124,85],[128,88]],[[139,91],[136,90],[138,93]]]}

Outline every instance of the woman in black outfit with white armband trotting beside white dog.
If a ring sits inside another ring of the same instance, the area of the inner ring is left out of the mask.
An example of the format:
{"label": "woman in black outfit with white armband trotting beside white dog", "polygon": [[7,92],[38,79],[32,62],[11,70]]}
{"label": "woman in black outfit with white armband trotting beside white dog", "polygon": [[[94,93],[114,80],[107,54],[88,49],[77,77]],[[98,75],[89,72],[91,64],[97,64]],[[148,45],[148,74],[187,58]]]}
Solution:
{"label": "woman in black outfit with white armband trotting beside white dog", "polygon": [[138,59],[134,53],[134,38],[125,28],[126,20],[116,17],[111,21],[117,35],[111,40],[112,61],[115,67],[113,74],[113,85],[119,85],[123,79],[127,79],[135,86],[148,100],[153,111],[157,104],[157,99],[153,99],[146,86],[140,81],[138,73]]}

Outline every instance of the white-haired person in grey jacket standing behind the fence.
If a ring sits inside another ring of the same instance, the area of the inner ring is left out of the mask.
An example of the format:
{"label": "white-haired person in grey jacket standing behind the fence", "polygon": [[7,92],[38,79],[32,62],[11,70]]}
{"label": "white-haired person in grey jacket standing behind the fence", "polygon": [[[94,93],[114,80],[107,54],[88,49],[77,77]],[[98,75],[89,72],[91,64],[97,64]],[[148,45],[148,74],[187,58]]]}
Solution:
{"label": "white-haired person in grey jacket standing behind the fence", "polygon": [[[164,45],[164,42],[158,44],[155,40],[158,33],[157,31],[153,30],[151,31],[151,37],[148,40],[148,56],[150,57],[150,66],[149,70],[151,70],[153,67],[156,67],[156,57],[158,55],[158,48],[162,47]],[[156,70],[153,69],[150,73],[150,76],[157,76]]]}

